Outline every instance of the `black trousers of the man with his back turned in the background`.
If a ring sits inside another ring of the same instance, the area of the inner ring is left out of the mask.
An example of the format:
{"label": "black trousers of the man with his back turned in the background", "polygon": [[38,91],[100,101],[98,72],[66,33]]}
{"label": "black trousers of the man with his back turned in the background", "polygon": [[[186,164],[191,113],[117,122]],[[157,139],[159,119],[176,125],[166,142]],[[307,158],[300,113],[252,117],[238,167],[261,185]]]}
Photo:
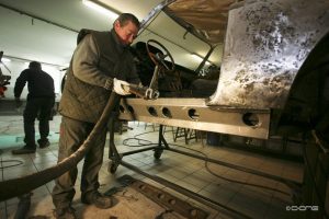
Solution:
{"label": "black trousers of the man with his back turned in the background", "polygon": [[30,97],[24,110],[24,141],[26,147],[35,149],[34,122],[38,118],[38,131],[41,141],[47,141],[49,135],[49,120],[53,115],[55,100],[53,97]]}

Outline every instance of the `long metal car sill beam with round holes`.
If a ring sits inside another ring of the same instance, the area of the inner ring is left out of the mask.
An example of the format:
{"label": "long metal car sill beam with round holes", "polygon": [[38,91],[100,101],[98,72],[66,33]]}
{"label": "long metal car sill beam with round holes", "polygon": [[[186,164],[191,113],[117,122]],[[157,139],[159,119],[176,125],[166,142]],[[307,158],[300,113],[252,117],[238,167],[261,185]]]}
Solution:
{"label": "long metal car sill beam with round holes", "polygon": [[120,118],[266,139],[270,111],[217,108],[205,99],[125,99]]}

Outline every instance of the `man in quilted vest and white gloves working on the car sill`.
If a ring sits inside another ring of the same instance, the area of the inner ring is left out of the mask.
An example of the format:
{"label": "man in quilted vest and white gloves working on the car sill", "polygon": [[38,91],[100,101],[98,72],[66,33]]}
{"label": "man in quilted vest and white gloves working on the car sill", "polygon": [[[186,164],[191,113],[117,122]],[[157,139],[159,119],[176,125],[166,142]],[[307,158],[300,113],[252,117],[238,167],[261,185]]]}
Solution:
{"label": "man in quilted vest and white gloves working on the car sill", "polygon": [[[139,21],[131,13],[121,14],[110,32],[81,30],[78,45],[67,70],[59,113],[63,115],[58,162],[72,154],[87,139],[100,118],[111,92],[131,94],[122,85],[140,82],[129,45],[139,31]],[[113,199],[98,192],[106,129],[101,130],[84,157],[81,173],[81,201],[110,208]],[[76,218],[71,201],[76,194],[75,168],[55,181],[53,203],[56,218]]]}

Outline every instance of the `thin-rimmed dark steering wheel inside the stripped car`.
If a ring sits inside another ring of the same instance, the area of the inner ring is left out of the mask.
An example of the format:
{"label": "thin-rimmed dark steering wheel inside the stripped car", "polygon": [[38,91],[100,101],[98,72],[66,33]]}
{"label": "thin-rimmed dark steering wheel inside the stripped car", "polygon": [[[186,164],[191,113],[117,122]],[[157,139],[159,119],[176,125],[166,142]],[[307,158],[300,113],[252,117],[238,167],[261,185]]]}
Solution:
{"label": "thin-rimmed dark steering wheel inside the stripped car", "polygon": [[[156,45],[156,47],[160,47],[162,53],[157,53],[154,54],[151,53],[150,47],[152,46],[151,44]],[[147,54],[150,57],[150,59],[152,60],[152,62],[156,66],[161,66],[164,67],[167,70],[169,71],[174,71],[174,61],[173,58],[171,56],[171,54],[169,53],[169,50],[159,42],[155,41],[155,39],[149,39],[146,42],[146,49],[147,49]],[[164,53],[163,53],[164,51]],[[168,62],[164,61],[164,59],[169,57],[171,65],[169,66]]]}

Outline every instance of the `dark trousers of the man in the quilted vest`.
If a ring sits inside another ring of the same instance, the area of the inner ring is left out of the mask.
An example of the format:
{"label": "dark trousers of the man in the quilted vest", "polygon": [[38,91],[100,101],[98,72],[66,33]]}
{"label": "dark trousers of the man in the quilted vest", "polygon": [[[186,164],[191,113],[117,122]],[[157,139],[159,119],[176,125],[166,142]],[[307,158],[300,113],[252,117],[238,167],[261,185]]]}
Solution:
{"label": "dark trousers of the man in the quilted vest", "polygon": [[[63,116],[60,124],[58,162],[77,151],[93,127],[94,124]],[[103,163],[105,140],[106,128],[101,130],[95,139],[92,140],[92,146],[84,157],[80,185],[81,195],[94,192],[100,187],[99,171]],[[77,175],[78,169],[75,166],[55,180],[55,187],[52,196],[56,209],[66,208],[71,205],[76,194],[75,184]]]}

